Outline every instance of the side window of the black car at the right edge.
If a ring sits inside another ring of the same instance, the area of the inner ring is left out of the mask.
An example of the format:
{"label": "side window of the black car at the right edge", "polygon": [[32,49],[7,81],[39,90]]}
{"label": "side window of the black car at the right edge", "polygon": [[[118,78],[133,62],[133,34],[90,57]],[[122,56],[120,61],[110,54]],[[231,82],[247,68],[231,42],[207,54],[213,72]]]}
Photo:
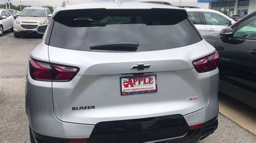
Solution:
{"label": "side window of the black car at the right edge", "polygon": [[234,37],[256,39],[256,15],[240,23]]}

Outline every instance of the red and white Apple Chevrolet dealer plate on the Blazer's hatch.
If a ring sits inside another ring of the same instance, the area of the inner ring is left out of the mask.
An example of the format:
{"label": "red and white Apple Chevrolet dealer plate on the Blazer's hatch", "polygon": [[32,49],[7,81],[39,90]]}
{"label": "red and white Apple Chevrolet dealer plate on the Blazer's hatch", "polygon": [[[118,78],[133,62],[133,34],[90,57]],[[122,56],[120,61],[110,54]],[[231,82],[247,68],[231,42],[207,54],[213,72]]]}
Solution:
{"label": "red and white Apple Chevrolet dealer plate on the Blazer's hatch", "polygon": [[120,77],[121,95],[151,94],[157,92],[157,75]]}

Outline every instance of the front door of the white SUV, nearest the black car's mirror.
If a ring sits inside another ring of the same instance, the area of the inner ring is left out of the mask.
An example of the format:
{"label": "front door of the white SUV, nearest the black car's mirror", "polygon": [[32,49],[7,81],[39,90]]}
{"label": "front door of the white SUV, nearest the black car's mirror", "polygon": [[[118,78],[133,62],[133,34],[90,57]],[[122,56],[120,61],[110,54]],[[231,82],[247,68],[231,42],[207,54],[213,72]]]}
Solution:
{"label": "front door of the white SUV, nearest the black car's mirror", "polygon": [[231,25],[231,21],[214,12],[202,12],[205,22],[206,34],[219,34],[220,31]]}

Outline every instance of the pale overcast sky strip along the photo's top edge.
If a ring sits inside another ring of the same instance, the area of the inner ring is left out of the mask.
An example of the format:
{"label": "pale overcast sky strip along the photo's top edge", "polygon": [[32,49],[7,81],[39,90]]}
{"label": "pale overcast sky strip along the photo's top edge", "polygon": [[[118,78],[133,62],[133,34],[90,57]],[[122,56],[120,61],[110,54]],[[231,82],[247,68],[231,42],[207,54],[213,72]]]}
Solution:
{"label": "pale overcast sky strip along the photo's top edge", "polygon": [[[0,3],[3,4],[5,3],[5,1],[8,1],[8,0],[0,0]],[[111,0],[69,0],[70,3],[96,2],[96,1],[106,2]],[[146,0],[123,0],[123,2],[125,1],[140,2],[140,1],[146,1]],[[147,1],[150,1],[150,0],[147,0]],[[180,0],[160,0],[160,1],[170,2],[173,5],[179,5],[180,3]],[[19,5],[19,0],[10,0],[10,2],[14,5]],[[21,0],[21,2],[23,5],[31,5],[31,6],[52,5],[53,7],[56,7],[57,5],[60,5],[63,2],[63,0]],[[208,3],[197,3],[197,0],[181,0],[181,5],[195,5],[203,9],[208,9]]]}

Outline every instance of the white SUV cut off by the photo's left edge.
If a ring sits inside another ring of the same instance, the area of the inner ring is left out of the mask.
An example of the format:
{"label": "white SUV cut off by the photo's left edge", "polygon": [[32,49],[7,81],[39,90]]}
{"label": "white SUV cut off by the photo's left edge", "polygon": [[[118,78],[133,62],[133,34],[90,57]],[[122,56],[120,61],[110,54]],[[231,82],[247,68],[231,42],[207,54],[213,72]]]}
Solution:
{"label": "white SUV cut off by the photo's left edge", "polygon": [[9,11],[0,9],[0,36],[3,35],[4,31],[12,31],[12,24],[14,24],[14,17]]}

